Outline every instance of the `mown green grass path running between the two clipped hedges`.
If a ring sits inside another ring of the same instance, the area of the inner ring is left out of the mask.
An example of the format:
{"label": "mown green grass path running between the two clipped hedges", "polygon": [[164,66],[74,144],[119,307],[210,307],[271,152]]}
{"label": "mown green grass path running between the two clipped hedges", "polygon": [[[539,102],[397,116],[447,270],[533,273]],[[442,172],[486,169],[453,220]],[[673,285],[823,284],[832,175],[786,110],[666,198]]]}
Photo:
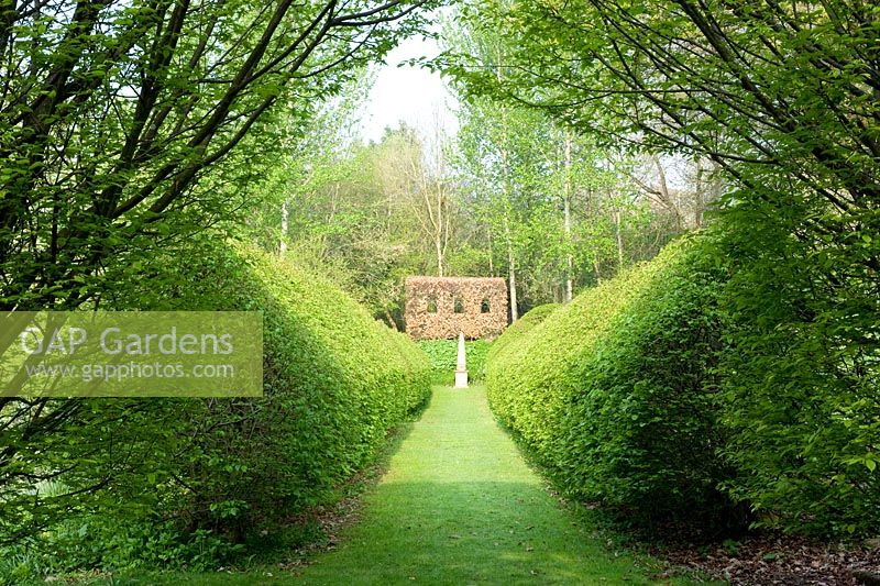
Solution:
{"label": "mown green grass path running between the two clipped hedges", "polygon": [[336,551],[293,571],[157,574],[119,584],[648,584],[653,566],[609,551],[556,500],[496,424],[482,387],[437,387]]}

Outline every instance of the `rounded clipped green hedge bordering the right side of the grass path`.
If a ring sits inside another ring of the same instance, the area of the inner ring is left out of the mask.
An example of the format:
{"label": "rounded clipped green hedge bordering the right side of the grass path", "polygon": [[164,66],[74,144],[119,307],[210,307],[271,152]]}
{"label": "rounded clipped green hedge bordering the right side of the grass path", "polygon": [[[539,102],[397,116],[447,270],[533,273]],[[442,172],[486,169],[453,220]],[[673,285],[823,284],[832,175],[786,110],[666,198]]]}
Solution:
{"label": "rounded clipped green hedge bordering the right side of the grass path", "polygon": [[716,421],[722,275],[703,258],[673,244],[528,335],[512,328],[487,366],[493,410],[558,483],[641,527],[741,521],[717,488],[732,474]]}

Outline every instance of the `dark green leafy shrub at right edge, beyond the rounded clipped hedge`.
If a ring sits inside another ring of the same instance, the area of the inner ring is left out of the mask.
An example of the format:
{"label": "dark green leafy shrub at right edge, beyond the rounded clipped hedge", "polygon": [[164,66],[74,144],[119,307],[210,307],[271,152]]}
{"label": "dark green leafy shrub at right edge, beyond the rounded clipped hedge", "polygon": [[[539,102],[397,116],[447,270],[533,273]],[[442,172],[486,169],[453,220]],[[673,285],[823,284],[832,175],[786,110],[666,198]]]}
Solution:
{"label": "dark green leafy shrub at right edge, beyond the rounded clipped hedge", "polygon": [[[735,273],[724,305],[729,488],[762,524],[818,537],[880,533],[880,239],[836,214],[728,212],[721,254]],[[807,239],[800,218],[840,222],[846,237]],[[875,218],[878,218],[875,214]],[[875,220],[876,222],[876,220]],[[761,226],[761,230],[755,226]],[[799,234],[793,237],[791,234]]]}

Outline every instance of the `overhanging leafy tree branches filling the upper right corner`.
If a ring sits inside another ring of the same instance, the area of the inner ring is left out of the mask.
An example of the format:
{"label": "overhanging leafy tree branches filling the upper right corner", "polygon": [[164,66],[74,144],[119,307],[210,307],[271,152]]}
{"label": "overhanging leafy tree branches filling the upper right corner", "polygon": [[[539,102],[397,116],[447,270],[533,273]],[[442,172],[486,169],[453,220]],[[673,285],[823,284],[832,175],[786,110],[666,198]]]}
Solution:
{"label": "overhanging leafy tree branches filling the upper right corner", "polygon": [[[738,183],[738,199],[768,210],[802,199],[821,211],[801,218],[813,237],[876,228],[877,7],[477,7],[484,26],[518,51],[503,79],[463,53],[448,59],[472,90],[532,104],[596,136],[697,154]],[[854,261],[880,268],[875,254]]]}

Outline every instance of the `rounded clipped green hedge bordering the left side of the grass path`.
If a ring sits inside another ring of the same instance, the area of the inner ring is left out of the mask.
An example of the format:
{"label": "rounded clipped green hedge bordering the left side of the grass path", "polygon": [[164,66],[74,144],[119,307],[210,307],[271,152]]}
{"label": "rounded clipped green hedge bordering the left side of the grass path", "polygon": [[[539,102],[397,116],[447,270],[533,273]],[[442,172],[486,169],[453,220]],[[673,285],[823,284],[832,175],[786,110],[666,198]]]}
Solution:
{"label": "rounded clipped green hedge bordering the left side of the grass path", "polygon": [[[265,392],[202,403],[205,429],[242,409],[257,414],[231,436],[204,434],[200,451],[213,462],[191,472],[198,509],[242,502],[237,524],[250,530],[326,502],[427,400],[427,357],[328,280],[261,251],[238,245],[197,274],[188,295],[156,305],[262,310]],[[213,476],[218,467],[226,474]]]}

